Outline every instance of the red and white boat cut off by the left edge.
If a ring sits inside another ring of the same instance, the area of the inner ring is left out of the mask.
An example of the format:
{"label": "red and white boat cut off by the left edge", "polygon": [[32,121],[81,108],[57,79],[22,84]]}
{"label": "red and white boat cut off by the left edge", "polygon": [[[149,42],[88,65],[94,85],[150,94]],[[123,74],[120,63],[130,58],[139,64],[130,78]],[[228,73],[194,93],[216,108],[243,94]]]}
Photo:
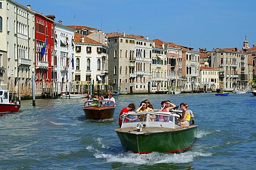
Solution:
{"label": "red and white boat cut off by the left edge", "polygon": [[16,103],[12,103],[9,98],[9,90],[0,89],[0,114],[19,111],[19,102],[17,101]]}

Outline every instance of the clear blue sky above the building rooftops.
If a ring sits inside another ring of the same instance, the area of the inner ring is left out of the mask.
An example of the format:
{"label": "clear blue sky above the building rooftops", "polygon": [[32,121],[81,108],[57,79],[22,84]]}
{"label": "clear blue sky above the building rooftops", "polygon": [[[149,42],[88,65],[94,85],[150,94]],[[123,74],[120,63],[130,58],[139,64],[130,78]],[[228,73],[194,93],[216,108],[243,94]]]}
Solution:
{"label": "clear blue sky above the building rooftops", "polygon": [[16,0],[63,25],[86,25],[198,48],[256,44],[255,0]]}

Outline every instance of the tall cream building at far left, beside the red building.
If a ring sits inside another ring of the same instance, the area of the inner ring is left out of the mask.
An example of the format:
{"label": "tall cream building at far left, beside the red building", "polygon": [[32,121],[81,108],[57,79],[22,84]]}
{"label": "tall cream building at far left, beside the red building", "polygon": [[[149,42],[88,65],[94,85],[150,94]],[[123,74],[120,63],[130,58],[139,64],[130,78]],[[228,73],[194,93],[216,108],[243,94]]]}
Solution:
{"label": "tall cream building at far left, beside the red building", "polygon": [[[30,5],[0,1],[1,83],[11,92],[31,94],[31,69],[35,54],[35,12]],[[3,70],[3,69],[2,69]],[[20,96],[20,95],[19,95]]]}

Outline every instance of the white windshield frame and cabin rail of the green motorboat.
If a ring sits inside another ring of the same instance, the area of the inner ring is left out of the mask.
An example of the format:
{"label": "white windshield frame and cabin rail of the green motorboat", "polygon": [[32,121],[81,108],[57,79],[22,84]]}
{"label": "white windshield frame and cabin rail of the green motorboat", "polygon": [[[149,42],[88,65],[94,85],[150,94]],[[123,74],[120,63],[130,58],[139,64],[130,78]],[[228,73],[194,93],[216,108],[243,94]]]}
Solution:
{"label": "white windshield frame and cabin rail of the green motorboat", "polygon": [[[121,115],[123,119],[122,128],[136,126],[138,123],[142,127],[162,127],[162,128],[177,128],[181,125],[181,113],[182,111],[171,111],[171,112],[129,112]],[[125,117],[138,116],[137,121],[129,122]],[[162,117],[163,119],[161,120]]]}

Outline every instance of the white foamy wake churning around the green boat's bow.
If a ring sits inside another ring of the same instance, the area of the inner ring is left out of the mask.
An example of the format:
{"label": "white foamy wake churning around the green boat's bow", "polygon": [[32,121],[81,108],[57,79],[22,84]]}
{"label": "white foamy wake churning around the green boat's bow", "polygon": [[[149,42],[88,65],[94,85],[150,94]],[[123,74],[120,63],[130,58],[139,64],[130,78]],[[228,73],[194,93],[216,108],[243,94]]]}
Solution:
{"label": "white foamy wake churning around the green boat's bow", "polygon": [[200,151],[186,151],[179,154],[169,154],[164,152],[151,152],[150,154],[134,154],[132,151],[125,152],[121,145],[109,146],[101,138],[94,139],[94,145],[86,149],[92,152],[97,159],[103,159],[105,163],[125,163],[136,165],[154,164],[185,164],[193,162],[198,156],[208,157],[211,154],[204,154]]}

